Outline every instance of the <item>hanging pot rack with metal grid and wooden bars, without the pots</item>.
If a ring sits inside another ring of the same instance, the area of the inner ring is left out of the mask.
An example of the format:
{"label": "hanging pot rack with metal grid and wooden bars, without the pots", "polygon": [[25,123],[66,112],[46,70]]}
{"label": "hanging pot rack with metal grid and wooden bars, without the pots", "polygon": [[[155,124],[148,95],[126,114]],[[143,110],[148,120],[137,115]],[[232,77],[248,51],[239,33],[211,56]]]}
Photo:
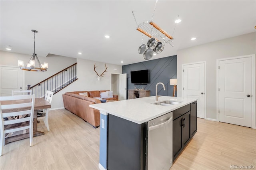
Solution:
{"label": "hanging pot rack with metal grid and wooden bars, without the pots", "polygon": [[[165,42],[170,45],[173,37],[170,36],[166,31],[160,28],[156,23],[153,21],[145,21],[138,25],[136,28],[139,32],[145,34],[149,38],[155,38],[158,42]],[[158,38],[159,37],[159,38]],[[172,45],[173,47],[173,45]]]}

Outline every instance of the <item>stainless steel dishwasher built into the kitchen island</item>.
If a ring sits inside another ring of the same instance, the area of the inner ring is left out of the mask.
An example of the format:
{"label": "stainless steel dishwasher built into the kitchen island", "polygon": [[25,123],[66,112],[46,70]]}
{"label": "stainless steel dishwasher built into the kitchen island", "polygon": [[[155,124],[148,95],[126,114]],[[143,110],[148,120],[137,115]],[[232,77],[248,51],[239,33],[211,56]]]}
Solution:
{"label": "stainless steel dishwasher built into the kitchen island", "polygon": [[172,112],[148,121],[148,170],[169,170],[172,166]]}

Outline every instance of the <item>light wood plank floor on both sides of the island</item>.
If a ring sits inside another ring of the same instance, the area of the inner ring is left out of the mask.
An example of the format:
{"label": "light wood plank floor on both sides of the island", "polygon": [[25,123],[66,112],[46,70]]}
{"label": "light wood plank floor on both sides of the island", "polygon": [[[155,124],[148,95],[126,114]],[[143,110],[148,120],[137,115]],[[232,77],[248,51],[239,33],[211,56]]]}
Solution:
{"label": "light wood plank floor on both sides of the island", "polygon": [[[65,109],[50,111],[50,132],[7,144],[0,157],[1,170],[98,170],[100,128],[93,128]],[[173,163],[174,169],[230,169],[230,165],[256,169],[256,130],[198,119],[198,132]]]}

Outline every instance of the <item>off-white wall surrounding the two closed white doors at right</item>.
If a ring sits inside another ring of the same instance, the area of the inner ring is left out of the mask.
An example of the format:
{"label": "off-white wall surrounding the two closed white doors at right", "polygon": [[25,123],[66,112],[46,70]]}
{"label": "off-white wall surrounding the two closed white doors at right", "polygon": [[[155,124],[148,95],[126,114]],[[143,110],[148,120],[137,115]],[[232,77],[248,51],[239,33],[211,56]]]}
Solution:
{"label": "off-white wall surrounding the two closed white doors at right", "polygon": [[[177,96],[182,92],[182,64],[207,62],[207,118],[216,117],[216,60],[256,53],[256,32],[181,49],[177,52]],[[254,63],[255,64],[255,63]]]}

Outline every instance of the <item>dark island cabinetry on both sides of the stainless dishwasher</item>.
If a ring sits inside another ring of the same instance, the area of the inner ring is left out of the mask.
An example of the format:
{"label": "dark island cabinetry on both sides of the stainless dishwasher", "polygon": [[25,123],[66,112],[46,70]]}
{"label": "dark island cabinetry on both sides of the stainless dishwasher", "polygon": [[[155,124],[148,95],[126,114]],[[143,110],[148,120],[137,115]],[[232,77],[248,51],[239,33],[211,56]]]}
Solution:
{"label": "dark island cabinetry on both sides of the stainless dishwasher", "polygon": [[[173,160],[197,132],[197,102],[173,111]],[[147,122],[108,114],[108,170],[147,170]]]}

